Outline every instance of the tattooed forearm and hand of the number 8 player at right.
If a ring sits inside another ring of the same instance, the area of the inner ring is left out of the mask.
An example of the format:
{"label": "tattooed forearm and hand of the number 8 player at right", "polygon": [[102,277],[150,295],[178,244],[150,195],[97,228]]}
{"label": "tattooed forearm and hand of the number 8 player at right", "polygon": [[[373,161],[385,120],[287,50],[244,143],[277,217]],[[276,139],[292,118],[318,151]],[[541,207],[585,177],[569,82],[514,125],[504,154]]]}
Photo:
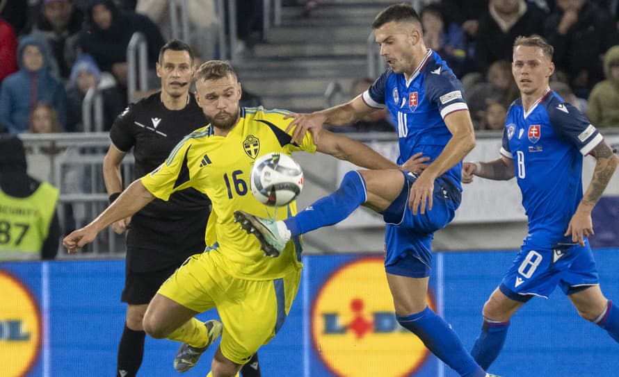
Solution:
{"label": "tattooed forearm and hand of the number 8 player at right", "polygon": [[583,246],[583,237],[593,235],[591,211],[593,211],[595,203],[602,197],[606,185],[611,181],[613,173],[619,164],[619,158],[613,153],[613,150],[604,140],[602,140],[600,144],[597,144],[590,154],[597,160],[597,162],[595,162],[593,178],[591,178],[589,187],[570,220],[568,231],[565,232],[565,235],[572,235],[573,242],[578,242]]}

